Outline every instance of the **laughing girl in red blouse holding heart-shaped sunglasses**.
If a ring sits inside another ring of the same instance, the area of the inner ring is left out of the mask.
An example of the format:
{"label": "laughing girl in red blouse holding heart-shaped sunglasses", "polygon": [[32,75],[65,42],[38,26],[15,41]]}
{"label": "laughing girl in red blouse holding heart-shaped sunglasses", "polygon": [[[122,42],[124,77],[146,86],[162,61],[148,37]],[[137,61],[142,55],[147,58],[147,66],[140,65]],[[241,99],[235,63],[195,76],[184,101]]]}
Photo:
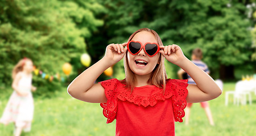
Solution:
{"label": "laughing girl in red blouse holding heart-shaped sunglasses", "polygon": [[[122,58],[125,79],[93,84]],[[185,70],[197,85],[167,79],[164,58]],[[155,31],[142,28],[128,42],[108,45],[105,56],[69,84],[68,93],[82,101],[101,103],[107,123],[117,120],[116,135],[175,135],[174,121],[183,121],[186,101],[211,100],[221,90],[179,46],[163,46]]]}

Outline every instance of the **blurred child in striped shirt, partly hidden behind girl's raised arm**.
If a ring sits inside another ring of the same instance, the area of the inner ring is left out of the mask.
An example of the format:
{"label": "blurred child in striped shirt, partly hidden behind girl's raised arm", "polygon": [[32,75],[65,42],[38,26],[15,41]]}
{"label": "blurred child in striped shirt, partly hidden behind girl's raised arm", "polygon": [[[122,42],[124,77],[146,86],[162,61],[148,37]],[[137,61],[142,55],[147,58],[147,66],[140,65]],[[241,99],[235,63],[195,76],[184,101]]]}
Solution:
{"label": "blurred child in striped shirt, partly hidden behind girl's raised arm", "polygon": [[[198,66],[201,70],[204,70],[205,73],[210,74],[210,71],[208,69],[208,66],[201,61],[203,58],[203,52],[200,48],[196,48],[192,52],[192,62],[195,63],[196,66]],[[181,77],[182,74],[184,74],[185,71],[180,69],[178,71],[179,77]],[[191,78],[191,76],[188,75],[188,84],[196,84],[196,82]],[[221,88],[222,90],[222,88]],[[193,103],[187,103],[187,108],[185,109],[185,124],[189,124],[189,116],[190,116],[190,111]],[[204,108],[205,113],[207,114],[207,118],[210,122],[210,125],[214,126],[213,118],[212,118],[212,113],[210,112],[210,107],[208,104],[208,101],[201,102],[201,107]]]}

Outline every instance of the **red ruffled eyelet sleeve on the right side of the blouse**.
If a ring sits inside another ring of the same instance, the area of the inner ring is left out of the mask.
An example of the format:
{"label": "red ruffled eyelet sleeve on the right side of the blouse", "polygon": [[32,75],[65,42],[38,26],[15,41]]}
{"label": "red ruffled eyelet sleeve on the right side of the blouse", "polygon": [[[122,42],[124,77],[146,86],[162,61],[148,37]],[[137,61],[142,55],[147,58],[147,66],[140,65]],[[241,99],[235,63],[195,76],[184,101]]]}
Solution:
{"label": "red ruffled eyelet sleeve on the right side of the blouse", "polygon": [[172,108],[175,121],[183,122],[184,109],[187,106],[188,80],[169,79],[166,83],[166,92],[172,92]]}

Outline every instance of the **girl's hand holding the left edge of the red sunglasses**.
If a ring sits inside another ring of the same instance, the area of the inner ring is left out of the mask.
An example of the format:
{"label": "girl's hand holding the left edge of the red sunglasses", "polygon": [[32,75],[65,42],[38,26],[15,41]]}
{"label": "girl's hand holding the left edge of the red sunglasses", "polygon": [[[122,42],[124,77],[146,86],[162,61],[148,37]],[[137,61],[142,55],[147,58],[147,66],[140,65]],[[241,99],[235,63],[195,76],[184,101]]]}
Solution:
{"label": "girl's hand holding the left edge of the red sunglasses", "polygon": [[127,50],[127,42],[123,44],[109,44],[106,47],[106,53],[104,58],[106,58],[110,63],[117,63],[123,56],[125,56]]}

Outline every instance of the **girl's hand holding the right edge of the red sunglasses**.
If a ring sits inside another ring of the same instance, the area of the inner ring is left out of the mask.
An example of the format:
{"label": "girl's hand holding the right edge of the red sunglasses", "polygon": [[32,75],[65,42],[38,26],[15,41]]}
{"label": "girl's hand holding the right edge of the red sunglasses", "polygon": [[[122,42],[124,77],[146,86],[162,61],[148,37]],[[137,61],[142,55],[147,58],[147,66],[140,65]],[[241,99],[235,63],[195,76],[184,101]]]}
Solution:
{"label": "girl's hand holding the right edge of the red sunglasses", "polygon": [[[162,49],[162,50],[161,50]],[[171,63],[179,66],[184,58],[186,58],[180,49],[180,46],[172,44],[168,46],[160,46],[159,52]]]}

